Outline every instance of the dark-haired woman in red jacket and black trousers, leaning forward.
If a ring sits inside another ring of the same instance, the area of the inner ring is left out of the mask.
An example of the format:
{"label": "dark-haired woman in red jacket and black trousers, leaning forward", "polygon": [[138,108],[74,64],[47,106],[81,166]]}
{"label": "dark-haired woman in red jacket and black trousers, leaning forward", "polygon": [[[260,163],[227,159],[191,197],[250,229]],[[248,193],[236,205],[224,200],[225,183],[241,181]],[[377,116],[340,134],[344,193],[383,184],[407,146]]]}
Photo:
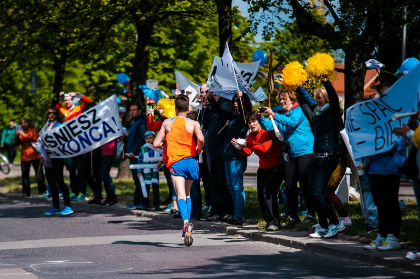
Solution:
{"label": "dark-haired woman in red jacket and black trousers, leaning forward", "polygon": [[265,131],[258,123],[259,115],[252,111],[247,116],[251,133],[244,139],[231,140],[234,147],[244,156],[254,152],[259,157],[259,168],[256,172],[256,189],[262,216],[267,222],[266,230],[278,230],[277,194],[284,178],[283,146],[274,131]]}

